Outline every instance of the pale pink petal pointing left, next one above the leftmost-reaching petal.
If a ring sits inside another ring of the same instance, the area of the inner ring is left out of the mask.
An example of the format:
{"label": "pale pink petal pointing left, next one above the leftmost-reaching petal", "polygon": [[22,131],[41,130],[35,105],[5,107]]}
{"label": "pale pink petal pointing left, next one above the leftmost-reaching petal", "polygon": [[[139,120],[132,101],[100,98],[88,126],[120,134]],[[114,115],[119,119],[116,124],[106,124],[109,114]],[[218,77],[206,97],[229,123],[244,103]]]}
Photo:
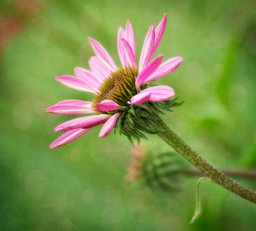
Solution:
{"label": "pale pink petal pointing left, next one above the leftmost-reaching petal", "polygon": [[56,76],[55,79],[62,83],[63,85],[70,87],[72,89],[83,91],[83,92],[91,92],[92,94],[97,94],[95,89],[93,89],[88,84],[84,83],[82,80],[76,78],[75,76]]}

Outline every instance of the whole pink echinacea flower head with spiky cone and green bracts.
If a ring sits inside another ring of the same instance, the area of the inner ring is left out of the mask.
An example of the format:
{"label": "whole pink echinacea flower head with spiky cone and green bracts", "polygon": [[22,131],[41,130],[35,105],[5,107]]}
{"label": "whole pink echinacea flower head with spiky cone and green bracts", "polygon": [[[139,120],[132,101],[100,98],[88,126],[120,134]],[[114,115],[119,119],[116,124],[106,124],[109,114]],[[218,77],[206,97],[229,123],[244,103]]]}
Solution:
{"label": "whole pink echinacea flower head with spiky cone and green bracts", "polygon": [[[91,92],[92,102],[81,100],[63,100],[45,111],[62,115],[85,116],[69,120],[57,126],[54,131],[66,131],[56,139],[50,148],[60,147],[82,136],[92,127],[105,123],[100,137],[108,135],[114,128],[139,140],[146,136],[142,132],[156,134],[163,131],[157,123],[157,114],[163,109],[180,105],[176,102],[174,90],[169,86],[158,86],[152,81],[173,72],[183,60],[175,57],[162,63],[163,55],[152,59],[164,34],[166,14],[155,28],[152,25],[145,38],[139,65],[136,62],[136,40],[132,25],[127,20],[125,29],[119,28],[117,50],[122,67],[117,67],[107,50],[96,40],[89,38],[96,56],[89,60],[91,70],[76,67],[75,76],[63,75],[55,79],[75,90]],[[162,63],[162,64],[161,64]]]}

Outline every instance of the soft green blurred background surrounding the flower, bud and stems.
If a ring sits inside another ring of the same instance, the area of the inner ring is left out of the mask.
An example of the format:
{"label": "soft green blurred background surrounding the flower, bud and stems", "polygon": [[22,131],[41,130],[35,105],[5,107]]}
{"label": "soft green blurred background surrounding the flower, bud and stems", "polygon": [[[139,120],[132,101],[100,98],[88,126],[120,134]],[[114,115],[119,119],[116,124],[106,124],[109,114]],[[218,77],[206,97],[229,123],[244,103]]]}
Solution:
{"label": "soft green blurred background surrounding the flower, bud and stems", "polygon": [[[165,12],[156,55],[184,61],[157,82],[186,102],[162,118],[214,166],[256,168],[255,1],[1,0],[0,230],[256,230],[256,206],[218,185],[201,183],[203,214],[193,225],[197,178],[183,179],[170,195],[131,187],[124,176],[132,146],[124,136],[100,139],[96,127],[48,149],[60,135],[52,129],[74,116],[44,109],[92,99],[54,80],[89,68],[86,37],[120,65],[117,30],[129,19],[139,59],[148,28]],[[149,149],[165,147],[148,139]],[[237,181],[256,190],[255,179]]]}

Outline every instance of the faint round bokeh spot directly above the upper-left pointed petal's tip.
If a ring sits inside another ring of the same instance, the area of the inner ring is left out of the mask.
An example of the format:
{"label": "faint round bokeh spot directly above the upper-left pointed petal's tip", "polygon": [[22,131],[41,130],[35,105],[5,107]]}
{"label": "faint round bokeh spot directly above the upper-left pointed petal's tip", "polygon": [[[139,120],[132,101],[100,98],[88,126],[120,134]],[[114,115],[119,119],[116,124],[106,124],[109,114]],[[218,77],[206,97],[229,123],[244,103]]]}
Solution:
{"label": "faint round bokeh spot directly above the upper-left pointed petal's tip", "polygon": [[100,11],[94,4],[88,4],[82,9],[79,19],[85,32],[93,32],[100,25]]}

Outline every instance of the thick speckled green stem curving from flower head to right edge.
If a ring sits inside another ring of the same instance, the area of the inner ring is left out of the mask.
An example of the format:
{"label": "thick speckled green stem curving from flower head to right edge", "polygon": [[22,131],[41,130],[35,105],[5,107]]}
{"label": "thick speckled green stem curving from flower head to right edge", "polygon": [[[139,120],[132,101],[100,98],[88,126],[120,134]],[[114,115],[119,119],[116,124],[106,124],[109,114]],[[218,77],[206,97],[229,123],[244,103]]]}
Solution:
{"label": "thick speckled green stem curving from flower head to right edge", "polygon": [[182,139],[180,139],[180,137],[176,135],[160,117],[159,121],[157,122],[165,130],[158,133],[157,135],[167,144],[169,144],[175,151],[182,155],[188,162],[193,164],[205,176],[212,179],[213,182],[226,188],[228,191],[243,197],[252,203],[256,203],[256,192],[253,192],[251,189],[236,183],[234,180],[227,177],[224,173],[214,168],[198,153],[192,150],[192,148],[189,147]]}

